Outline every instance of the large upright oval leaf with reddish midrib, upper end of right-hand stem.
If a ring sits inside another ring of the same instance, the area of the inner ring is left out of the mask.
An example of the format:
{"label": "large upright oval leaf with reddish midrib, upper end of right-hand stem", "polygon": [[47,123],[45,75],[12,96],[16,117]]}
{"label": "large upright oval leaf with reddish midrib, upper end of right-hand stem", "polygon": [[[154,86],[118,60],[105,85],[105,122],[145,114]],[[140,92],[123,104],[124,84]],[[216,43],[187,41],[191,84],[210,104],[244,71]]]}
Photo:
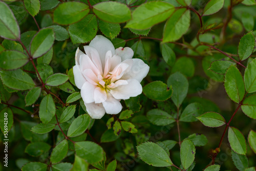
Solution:
{"label": "large upright oval leaf with reddish midrib, upper end of right-hand stem", "polygon": [[240,71],[235,66],[230,66],[225,74],[224,87],[229,98],[239,103],[245,94],[244,80]]}

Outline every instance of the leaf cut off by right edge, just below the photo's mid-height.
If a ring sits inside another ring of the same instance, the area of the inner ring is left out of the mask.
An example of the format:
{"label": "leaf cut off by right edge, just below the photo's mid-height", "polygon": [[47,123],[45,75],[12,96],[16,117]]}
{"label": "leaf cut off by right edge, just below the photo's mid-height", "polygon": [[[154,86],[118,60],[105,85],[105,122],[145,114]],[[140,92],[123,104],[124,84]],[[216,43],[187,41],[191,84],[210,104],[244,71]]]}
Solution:
{"label": "leaf cut off by right edge, just below the photo's mid-height", "polygon": [[244,99],[241,109],[245,115],[252,119],[256,119],[256,95]]}

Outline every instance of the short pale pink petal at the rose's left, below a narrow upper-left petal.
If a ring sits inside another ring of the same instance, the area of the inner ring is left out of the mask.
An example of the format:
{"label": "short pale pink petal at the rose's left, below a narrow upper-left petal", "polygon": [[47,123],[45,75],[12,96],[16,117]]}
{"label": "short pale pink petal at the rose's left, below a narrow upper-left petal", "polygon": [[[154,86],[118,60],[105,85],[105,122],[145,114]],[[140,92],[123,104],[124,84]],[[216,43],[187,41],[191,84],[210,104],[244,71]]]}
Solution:
{"label": "short pale pink petal at the rose's left, below a narrow upper-left petal", "polygon": [[89,58],[89,56],[84,54],[80,56],[80,70],[83,72],[86,69],[92,70],[95,75],[101,74],[98,68],[94,65],[92,60]]}

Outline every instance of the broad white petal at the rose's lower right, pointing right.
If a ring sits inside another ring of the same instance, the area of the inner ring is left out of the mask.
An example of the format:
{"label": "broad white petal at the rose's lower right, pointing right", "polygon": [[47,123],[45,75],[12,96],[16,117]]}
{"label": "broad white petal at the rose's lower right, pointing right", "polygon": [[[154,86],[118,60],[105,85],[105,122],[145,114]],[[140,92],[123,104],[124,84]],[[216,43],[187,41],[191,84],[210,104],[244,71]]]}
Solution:
{"label": "broad white petal at the rose's lower right, pointing right", "polygon": [[111,89],[110,93],[115,99],[129,99],[130,97],[136,97],[142,93],[142,86],[136,79],[127,80],[128,84],[121,85],[115,89]]}

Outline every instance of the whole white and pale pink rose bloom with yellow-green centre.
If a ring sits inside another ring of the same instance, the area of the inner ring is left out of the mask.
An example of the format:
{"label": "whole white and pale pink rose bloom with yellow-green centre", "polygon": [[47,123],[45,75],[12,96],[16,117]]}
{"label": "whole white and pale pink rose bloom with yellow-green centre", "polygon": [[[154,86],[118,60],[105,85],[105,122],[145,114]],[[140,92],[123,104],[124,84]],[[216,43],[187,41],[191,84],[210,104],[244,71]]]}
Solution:
{"label": "whole white and pale pink rose bloom with yellow-green centre", "polygon": [[118,114],[122,110],[121,99],[142,93],[140,82],[150,67],[141,59],[132,59],[131,48],[115,50],[112,42],[101,35],[83,48],[86,54],[77,48],[73,73],[88,114],[93,119],[100,119],[105,113]]}

